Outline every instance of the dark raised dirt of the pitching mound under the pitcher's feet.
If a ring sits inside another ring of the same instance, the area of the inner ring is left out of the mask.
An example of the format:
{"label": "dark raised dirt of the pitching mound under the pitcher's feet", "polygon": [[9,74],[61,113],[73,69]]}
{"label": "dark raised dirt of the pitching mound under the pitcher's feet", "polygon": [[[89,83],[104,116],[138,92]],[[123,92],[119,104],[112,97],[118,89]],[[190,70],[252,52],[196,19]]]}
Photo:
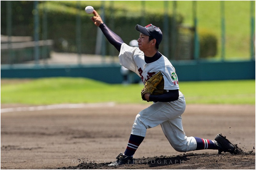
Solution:
{"label": "dark raised dirt of the pitching mound under the pitcher's feet", "polygon": [[255,169],[255,152],[230,153],[187,153],[173,156],[142,157],[134,164],[108,166],[111,162],[96,163],[81,159],[77,166],[58,169]]}

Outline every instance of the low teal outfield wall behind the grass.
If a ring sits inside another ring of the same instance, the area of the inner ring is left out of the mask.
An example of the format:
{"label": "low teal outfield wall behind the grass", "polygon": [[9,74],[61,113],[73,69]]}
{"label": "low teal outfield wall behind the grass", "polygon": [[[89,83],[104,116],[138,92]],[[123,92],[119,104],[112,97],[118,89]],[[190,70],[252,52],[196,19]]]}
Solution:
{"label": "low teal outfield wall behind the grass", "polygon": [[[179,81],[255,79],[255,61],[172,62]],[[135,73],[134,73],[135,74]],[[1,78],[85,77],[121,83],[119,64],[105,65],[1,65]],[[136,74],[134,78],[140,81]]]}

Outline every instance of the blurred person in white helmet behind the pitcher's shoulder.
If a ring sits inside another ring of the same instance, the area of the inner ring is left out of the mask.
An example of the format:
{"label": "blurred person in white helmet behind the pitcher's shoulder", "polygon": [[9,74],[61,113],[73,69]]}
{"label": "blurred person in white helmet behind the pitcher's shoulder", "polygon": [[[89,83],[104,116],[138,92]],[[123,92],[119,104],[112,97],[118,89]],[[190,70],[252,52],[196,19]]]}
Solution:
{"label": "blurred person in white helmet behind the pitcher's shoulder", "polygon": [[[129,46],[131,47],[139,47],[138,46],[138,41],[137,40],[132,40],[129,42]],[[133,72],[129,69],[126,69],[124,66],[121,66],[120,68],[120,72],[123,76],[123,82],[122,84],[126,85],[126,84],[131,84],[131,83],[135,83],[133,80]],[[138,82],[136,82],[138,83]]]}

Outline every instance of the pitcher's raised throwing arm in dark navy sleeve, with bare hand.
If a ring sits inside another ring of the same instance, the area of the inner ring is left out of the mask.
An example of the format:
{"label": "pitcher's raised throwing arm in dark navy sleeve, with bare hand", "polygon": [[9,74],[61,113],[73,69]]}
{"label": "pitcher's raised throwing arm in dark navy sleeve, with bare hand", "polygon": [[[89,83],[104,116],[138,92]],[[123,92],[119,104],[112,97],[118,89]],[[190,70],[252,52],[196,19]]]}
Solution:
{"label": "pitcher's raised throwing arm in dark navy sleeve, with bare hand", "polygon": [[124,41],[118,35],[116,35],[116,33],[111,31],[105,23],[103,23],[97,11],[93,10],[93,14],[94,17],[91,19],[94,24],[100,27],[107,40],[120,52],[121,45],[124,43]]}

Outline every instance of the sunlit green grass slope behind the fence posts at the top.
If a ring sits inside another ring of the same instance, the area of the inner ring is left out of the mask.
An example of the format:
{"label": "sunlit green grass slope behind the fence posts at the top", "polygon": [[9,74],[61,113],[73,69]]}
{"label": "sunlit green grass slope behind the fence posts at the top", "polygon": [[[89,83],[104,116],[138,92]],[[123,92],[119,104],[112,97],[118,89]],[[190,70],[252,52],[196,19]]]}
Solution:
{"label": "sunlit green grass slope behind the fence posts at the top", "polygon": [[[145,10],[146,15],[155,13],[164,13],[164,7],[168,7],[168,13],[173,13],[173,1],[104,1],[105,8],[113,6],[114,11],[127,11],[127,13],[136,13]],[[184,24],[194,25],[193,20],[193,1],[175,1],[176,12],[184,17]],[[218,39],[218,49],[216,58],[221,56],[221,13],[220,1],[196,1],[198,29],[207,29],[212,31]],[[54,3],[54,1],[52,2]],[[76,1],[61,1],[68,6],[76,5]],[[252,5],[251,5],[252,3]],[[100,5],[103,1],[81,1],[82,7],[91,5],[100,11]],[[251,6],[252,12],[251,12]],[[225,9],[225,58],[251,59],[250,39],[251,39],[251,18],[255,20],[255,1],[224,1]],[[251,16],[251,13],[253,14]],[[87,17],[84,13],[84,17]],[[154,22],[154,21],[152,21]],[[139,24],[139,23],[138,23]],[[252,28],[255,33],[255,24]]]}

